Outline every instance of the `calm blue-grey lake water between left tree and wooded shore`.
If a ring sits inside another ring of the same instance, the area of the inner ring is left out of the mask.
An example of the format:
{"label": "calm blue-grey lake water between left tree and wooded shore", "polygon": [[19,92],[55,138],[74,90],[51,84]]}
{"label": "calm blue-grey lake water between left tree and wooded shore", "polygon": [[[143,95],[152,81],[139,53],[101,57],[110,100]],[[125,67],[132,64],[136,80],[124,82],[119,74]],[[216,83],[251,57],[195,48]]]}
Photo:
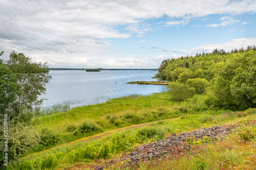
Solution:
{"label": "calm blue-grey lake water between left tree and wooded shore", "polygon": [[131,94],[165,91],[161,85],[125,84],[132,81],[157,81],[153,70],[50,70],[52,80],[46,85],[43,106],[72,101],[76,106],[102,103],[110,98]]}

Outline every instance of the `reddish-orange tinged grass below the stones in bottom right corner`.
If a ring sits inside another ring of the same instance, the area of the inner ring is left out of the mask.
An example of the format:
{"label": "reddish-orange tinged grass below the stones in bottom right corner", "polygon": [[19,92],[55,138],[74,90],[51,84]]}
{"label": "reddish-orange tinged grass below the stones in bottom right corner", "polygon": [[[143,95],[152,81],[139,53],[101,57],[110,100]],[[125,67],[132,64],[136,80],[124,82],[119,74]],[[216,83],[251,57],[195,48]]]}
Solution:
{"label": "reddish-orange tinged grass below the stones in bottom right corner", "polygon": [[[254,120],[256,117],[254,116]],[[255,127],[255,125],[254,125]],[[256,134],[255,134],[256,135]],[[141,162],[136,169],[255,169],[256,140],[243,140],[238,133],[222,141],[198,145],[177,159]],[[117,169],[117,168],[116,168]]]}

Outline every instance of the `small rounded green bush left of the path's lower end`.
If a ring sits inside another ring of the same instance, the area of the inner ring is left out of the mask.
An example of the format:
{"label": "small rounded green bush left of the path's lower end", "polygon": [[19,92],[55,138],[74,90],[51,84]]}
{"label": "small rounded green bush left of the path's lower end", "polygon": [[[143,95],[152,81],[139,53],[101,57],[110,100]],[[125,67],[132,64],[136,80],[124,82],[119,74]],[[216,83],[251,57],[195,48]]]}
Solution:
{"label": "small rounded green bush left of the path's lower end", "polygon": [[44,145],[45,147],[54,145],[59,140],[59,135],[57,134],[57,132],[48,128],[44,128],[41,130],[40,137],[40,144]]}

